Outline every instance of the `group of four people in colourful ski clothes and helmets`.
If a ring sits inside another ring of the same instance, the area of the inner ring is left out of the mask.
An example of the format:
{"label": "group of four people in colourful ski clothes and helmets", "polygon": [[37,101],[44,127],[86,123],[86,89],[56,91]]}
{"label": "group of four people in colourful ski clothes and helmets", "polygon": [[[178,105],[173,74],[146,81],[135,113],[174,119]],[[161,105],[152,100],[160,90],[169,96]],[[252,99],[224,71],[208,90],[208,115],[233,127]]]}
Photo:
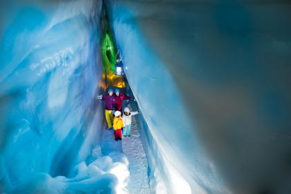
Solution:
{"label": "group of four people in colourful ski clothes and helmets", "polygon": [[123,115],[121,116],[122,102],[123,100],[134,100],[134,98],[122,94],[118,88],[115,91],[109,88],[105,96],[100,95],[97,98],[105,100],[107,130],[111,130],[113,127],[115,140],[122,140],[122,136],[130,136],[132,115],[138,114],[139,112],[131,112],[129,107],[125,107]]}

